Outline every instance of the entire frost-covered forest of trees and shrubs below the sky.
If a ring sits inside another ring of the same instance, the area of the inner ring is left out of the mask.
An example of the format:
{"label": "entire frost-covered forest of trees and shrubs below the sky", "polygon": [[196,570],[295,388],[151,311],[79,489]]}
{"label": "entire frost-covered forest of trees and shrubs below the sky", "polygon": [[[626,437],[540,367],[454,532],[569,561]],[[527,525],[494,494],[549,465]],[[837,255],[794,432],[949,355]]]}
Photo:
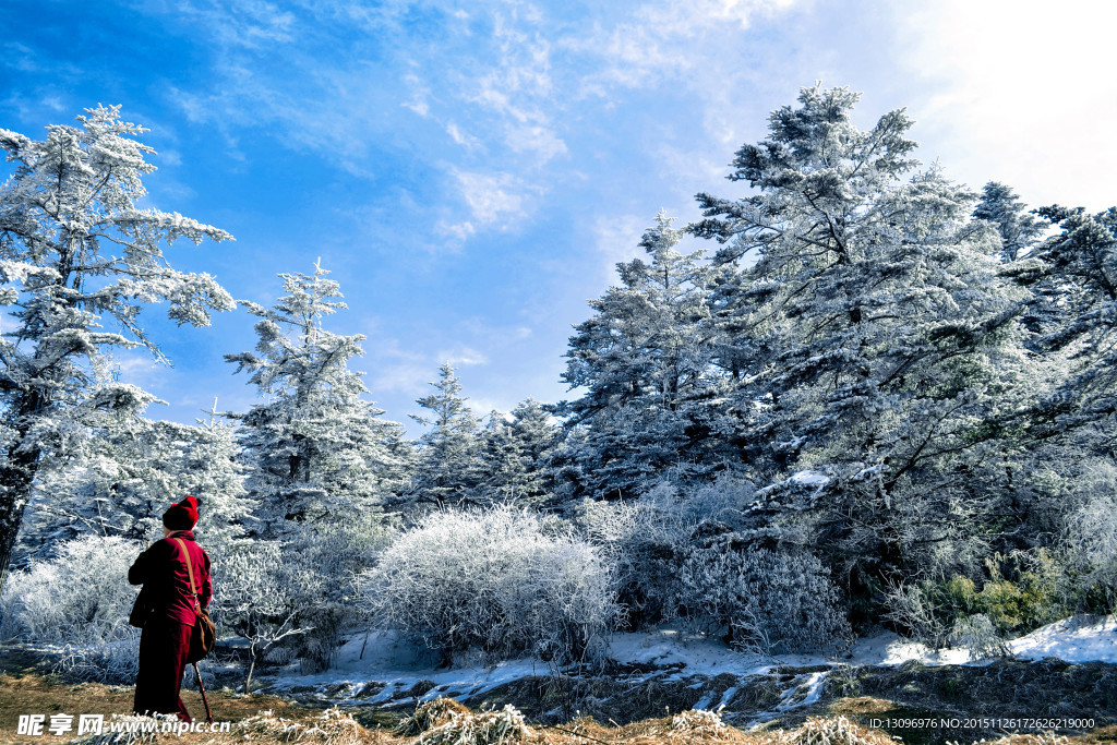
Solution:
{"label": "entire frost-covered forest of trees and shrubs below the sky", "polygon": [[[569,400],[479,417],[447,363],[418,440],[372,403],[364,337],[330,331],[327,268],[266,307],[172,267],[231,236],[145,206],[152,151],[118,107],[0,130],[0,640],[131,682],[127,569],[187,494],[246,689],[367,629],[443,666],[592,668],[667,624],[727,653],[888,629],[995,656],[1113,613],[1117,208],[953,183],[903,109],[858,128],[858,98],[803,88],[703,219],[649,214],[570,337]],[[112,365],[162,359],[147,306],[255,316],[225,356],[256,402],[150,418]]]}

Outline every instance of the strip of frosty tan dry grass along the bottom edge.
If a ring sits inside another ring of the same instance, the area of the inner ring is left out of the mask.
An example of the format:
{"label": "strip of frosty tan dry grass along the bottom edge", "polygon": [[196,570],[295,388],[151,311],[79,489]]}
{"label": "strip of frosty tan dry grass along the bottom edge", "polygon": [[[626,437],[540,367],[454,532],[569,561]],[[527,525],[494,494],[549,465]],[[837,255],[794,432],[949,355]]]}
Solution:
{"label": "strip of frosty tan dry grass along the bottom edge", "polygon": [[[189,699],[191,710],[201,714],[197,691],[187,694],[193,697]],[[381,723],[373,726],[376,713],[371,708],[322,711],[274,697],[244,697],[225,690],[211,693],[210,705],[216,722],[235,723],[228,735],[157,735],[152,742],[178,745],[238,742],[306,745],[892,745],[898,742],[887,733],[868,729],[858,723],[896,713],[894,703],[863,696],[842,699],[840,704],[832,706],[829,715],[810,718],[794,729],[743,732],[723,722],[719,714],[701,710],[645,718],[624,726],[601,724],[585,716],[558,726],[527,726],[519,713],[510,707],[475,711],[452,699],[436,699],[420,706],[393,729],[394,719],[388,720],[386,726]],[[17,736],[19,714],[111,715],[126,714],[131,706],[130,687],[73,686],[38,675],[0,675],[0,743],[67,742],[65,737],[52,735]],[[369,726],[362,726],[357,718],[370,723]],[[964,734],[958,737],[953,733],[938,739],[920,739],[915,733],[910,734],[914,742],[942,743],[946,737],[960,743],[976,739],[976,736],[966,738]],[[905,737],[905,742],[911,741]],[[1117,727],[1099,728],[1083,737],[1027,734],[985,742],[995,745],[1117,743]]]}

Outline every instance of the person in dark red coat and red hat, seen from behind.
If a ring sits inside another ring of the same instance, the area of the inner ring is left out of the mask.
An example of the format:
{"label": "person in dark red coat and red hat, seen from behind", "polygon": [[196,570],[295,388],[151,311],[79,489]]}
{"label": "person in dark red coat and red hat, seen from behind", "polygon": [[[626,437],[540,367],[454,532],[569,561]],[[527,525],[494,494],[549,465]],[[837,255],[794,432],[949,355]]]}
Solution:
{"label": "person in dark red coat and red hat, seen from behind", "polygon": [[[213,594],[210,561],[191,532],[198,522],[198,500],[188,496],[163,513],[163,539],[152,544],[128,570],[128,582],[142,584],[139,609],[143,633],[140,636],[140,671],[136,674],[136,714],[178,714],[191,722],[179,688],[190,651],[194,627],[194,593],[182,554],[190,553],[194,584],[202,608]],[[137,613],[134,611],[134,615]],[[133,619],[133,623],[136,623]]]}

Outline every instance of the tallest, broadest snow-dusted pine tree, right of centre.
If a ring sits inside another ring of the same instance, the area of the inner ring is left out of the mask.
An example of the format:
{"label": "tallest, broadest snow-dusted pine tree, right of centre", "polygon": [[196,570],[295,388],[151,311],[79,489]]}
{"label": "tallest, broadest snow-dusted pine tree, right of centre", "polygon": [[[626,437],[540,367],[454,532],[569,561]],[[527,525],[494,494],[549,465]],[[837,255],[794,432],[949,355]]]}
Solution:
{"label": "tallest, broadest snow-dusted pine tree, right of centre", "polygon": [[903,111],[858,130],[857,99],[817,86],[774,112],[729,176],[755,193],[699,194],[693,230],[736,270],[718,313],[747,372],[738,437],[772,484],[757,516],[815,520],[815,545],[871,594],[881,575],[975,561],[996,531],[1003,475],[983,443],[1018,403],[1023,294],[967,220],[975,194],[915,171]]}

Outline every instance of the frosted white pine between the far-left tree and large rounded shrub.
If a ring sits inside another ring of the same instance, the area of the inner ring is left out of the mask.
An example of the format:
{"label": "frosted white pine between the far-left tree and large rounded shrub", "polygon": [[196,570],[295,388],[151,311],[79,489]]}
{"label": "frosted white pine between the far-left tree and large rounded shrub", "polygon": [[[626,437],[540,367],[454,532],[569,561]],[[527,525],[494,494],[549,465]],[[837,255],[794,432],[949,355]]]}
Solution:
{"label": "frosted white pine between the far-left tree and large rounded shrub", "polygon": [[327,274],[315,265],[314,275],[279,275],[286,295],[271,308],[241,300],[260,318],[259,343],[256,352],[226,355],[237,372],[251,373],[264,399],[229,416],[241,422],[247,487],[266,537],[378,508],[403,466],[400,426],[379,419],[383,411],[361,398],[363,373],[349,366],[364,354],[364,336],[322,327],[345,307]]}

